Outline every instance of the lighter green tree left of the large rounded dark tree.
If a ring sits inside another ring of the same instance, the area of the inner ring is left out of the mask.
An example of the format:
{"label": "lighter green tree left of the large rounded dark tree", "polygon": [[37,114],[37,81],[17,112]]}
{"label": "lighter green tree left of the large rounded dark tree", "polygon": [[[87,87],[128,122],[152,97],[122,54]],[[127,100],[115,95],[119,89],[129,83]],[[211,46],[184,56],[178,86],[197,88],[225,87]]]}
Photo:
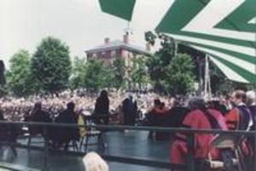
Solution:
{"label": "lighter green tree left of the large rounded dark tree", "polygon": [[17,96],[26,96],[35,93],[37,82],[30,70],[30,54],[26,50],[20,50],[9,61],[10,68],[7,71],[7,86]]}

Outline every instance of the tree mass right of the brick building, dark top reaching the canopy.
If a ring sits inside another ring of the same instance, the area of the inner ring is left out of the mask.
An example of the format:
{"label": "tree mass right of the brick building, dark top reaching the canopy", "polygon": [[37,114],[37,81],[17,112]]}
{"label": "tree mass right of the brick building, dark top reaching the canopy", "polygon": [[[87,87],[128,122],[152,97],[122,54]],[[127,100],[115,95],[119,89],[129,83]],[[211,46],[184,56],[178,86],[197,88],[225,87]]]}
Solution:
{"label": "tree mass right of the brick building, dark top reaching the canopy", "polygon": [[172,37],[164,34],[153,36],[146,32],[145,40],[154,44],[160,40],[160,49],[147,61],[148,74],[154,84],[154,89],[166,94],[186,94],[194,86],[195,65],[187,54],[177,54],[177,46]]}

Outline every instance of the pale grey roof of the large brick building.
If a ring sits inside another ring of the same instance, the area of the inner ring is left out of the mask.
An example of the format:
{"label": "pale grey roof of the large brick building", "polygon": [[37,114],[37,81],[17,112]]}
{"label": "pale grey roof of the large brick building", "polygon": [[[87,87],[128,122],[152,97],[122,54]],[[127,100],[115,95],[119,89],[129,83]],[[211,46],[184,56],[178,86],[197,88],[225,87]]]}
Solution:
{"label": "pale grey roof of the large brick building", "polygon": [[88,53],[98,53],[98,52],[103,52],[103,51],[108,51],[108,50],[114,50],[114,49],[119,49],[123,48],[132,52],[137,52],[138,54],[149,54],[148,51],[145,48],[142,48],[137,45],[133,45],[130,43],[123,43],[120,40],[114,40],[109,43],[103,43],[99,46],[96,46],[95,48],[90,48],[89,50],[86,50],[86,54]]}

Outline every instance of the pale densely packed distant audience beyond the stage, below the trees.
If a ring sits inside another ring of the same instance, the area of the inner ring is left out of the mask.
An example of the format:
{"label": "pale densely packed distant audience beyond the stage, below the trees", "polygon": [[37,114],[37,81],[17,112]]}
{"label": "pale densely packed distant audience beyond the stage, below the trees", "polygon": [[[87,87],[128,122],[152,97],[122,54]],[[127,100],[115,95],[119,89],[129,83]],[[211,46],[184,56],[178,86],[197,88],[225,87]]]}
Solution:
{"label": "pale densely packed distant audience beyond the stage, below the trees", "polygon": [[[34,95],[28,98],[3,97],[0,98],[0,108],[1,111],[3,111],[4,118],[10,122],[23,121],[26,115],[29,115],[32,111],[34,104],[39,101],[44,111],[47,111],[52,117],[64,110],[67,102],[71,101],[76,105],[74,110],[77,113],[92,113],[95,111],[96,105],[97,107],[101,107],[99,105],[105,105],[102,101],[96,103],[98,95],[97,93],[89,93],[83,90],[66,90],[59,94]],[[138,109],[140,109],[142,113],[146,113],[154,99],[158,97],[158,94],[108,92],[109,113],[114,114],[119,112],[123,101],[125,102],[125,99],[131,96],[133,100],[137,102]],[[166,105],[172,104],[172,100],[168,96],[163,96],[161,100],[165,101]]]}

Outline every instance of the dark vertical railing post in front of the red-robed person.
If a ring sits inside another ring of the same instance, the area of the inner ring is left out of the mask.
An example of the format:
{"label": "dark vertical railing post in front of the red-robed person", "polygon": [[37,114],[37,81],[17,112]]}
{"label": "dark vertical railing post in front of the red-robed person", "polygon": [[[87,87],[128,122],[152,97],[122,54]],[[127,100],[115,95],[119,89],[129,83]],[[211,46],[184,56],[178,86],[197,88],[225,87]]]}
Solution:
{"label": "dark vertical railing post in front of the red-robed person", "polygon": [[195,149],[195,134],[188,134],[188,171],[195,171],[195,158],[194,158],[194,149]]}

